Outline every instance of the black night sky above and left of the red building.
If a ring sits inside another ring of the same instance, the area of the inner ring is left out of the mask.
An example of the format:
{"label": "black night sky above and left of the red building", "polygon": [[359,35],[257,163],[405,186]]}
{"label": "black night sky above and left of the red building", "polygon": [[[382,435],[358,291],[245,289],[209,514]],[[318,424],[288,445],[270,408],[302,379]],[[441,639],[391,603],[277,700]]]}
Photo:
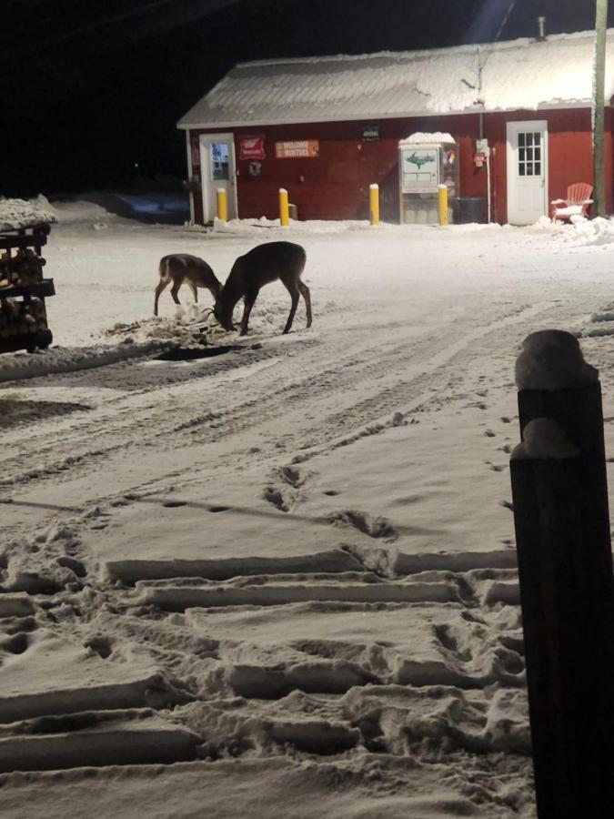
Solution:
{"label": "black night sky above and left of the red building", "polygon": [[[511,4],[511,12],[508,14]],[[186,113],[239,61],[594,26],[594,0],[0,0],[0,195],[185,174]],[[611,14],[609,25],[614,25]],[[138,170],[135,169],[138,163]]]}

